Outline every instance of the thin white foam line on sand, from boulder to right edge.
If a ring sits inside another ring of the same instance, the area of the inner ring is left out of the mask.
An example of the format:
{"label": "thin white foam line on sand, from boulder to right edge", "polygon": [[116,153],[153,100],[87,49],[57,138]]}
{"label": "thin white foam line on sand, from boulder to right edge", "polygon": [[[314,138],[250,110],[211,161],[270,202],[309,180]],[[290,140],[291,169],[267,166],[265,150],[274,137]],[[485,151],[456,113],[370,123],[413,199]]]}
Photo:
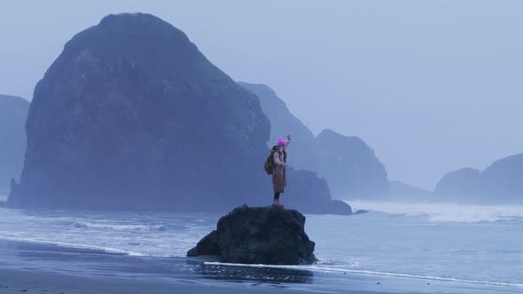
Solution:
{"label": "thin white foam line on sand, from boulder to right edge", "polygon": [[466,283],[485,284],[485,285],[492,285],[492,286],[523,288],[523,283],[461,280],[461,279],[456,279],[456,278],[445,278],[445,277],[431,276],[431,275],[407,275],[407,274],[375,272],[375,271],[363,270],[363,269],[359,270],[359,269],[343,269],[343,268],[334,268],[334,267],[250,265],[250,264],[240,264],[240,263],[222,263],[222,262],[215,262],[215,261],[206,261],[206,262],[204,262],[204,264],[209,265],[209,266],[226,266],[226,267],[269,267],[269,268],[301,269],[301,270],[310,270],[310,271],[317,271],[317,272],[350,273],[350,274],[356,274],[356,275],[379,275],[379,276],[389,276],[389,277],[405,278],[405,279],[419,279],[419,280],[430,280],[430,281],[441,281],[441,282],[466,282]]}

